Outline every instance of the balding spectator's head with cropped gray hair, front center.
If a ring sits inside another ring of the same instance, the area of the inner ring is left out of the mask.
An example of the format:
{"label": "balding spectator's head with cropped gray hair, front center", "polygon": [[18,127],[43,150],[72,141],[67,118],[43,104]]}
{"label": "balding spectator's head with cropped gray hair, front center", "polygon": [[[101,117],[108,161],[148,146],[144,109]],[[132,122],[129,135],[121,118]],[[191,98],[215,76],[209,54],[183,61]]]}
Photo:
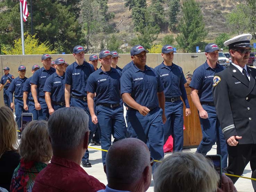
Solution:
{"label": "balding spectator's head with cropped gray hair, front center", "polygon": [[139,139],[119,140],[106,154],[104,171],[111,189],[145,192],[151,183],[150,151]]}

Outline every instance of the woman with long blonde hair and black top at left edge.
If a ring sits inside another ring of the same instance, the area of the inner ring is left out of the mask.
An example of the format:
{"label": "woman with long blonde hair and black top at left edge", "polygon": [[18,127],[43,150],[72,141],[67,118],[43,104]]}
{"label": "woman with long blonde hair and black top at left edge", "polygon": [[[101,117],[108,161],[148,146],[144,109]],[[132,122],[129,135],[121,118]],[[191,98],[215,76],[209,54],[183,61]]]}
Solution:
{"label": "woman with long blonde hair and black top at left edge", "polygon": [[0,187],[10,189],[11,177],[19,164],[17,124],[9,107],[0,107]]}

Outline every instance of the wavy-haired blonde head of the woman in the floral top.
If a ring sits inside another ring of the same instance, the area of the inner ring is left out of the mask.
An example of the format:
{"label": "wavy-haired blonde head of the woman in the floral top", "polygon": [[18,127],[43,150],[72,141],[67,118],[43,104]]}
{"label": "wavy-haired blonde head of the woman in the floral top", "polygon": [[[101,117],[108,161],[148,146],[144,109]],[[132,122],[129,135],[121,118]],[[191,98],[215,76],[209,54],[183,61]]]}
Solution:
{"label": "wavy-haired blonde head of the woman in the floral top", "polygon": [[48,163],[52,158],[52,147],[46,121],[31,121],[22,132],[19,154],[24,162]]}

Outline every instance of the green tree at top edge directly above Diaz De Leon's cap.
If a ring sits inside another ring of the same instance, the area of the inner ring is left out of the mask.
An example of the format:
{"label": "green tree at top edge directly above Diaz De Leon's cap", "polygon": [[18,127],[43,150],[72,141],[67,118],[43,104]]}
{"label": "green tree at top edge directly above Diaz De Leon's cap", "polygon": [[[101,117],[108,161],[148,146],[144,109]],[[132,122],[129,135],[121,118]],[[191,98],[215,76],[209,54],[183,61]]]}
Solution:
{"label": "green tree at top edge directly above Diaz De Leon's cap", "polygon": [[129,10],[131,10],[131,16],[133,18],[135,31],[142,31],[143,28],[146,26],[146,0],[127,0],[125,6],[129,7]]}

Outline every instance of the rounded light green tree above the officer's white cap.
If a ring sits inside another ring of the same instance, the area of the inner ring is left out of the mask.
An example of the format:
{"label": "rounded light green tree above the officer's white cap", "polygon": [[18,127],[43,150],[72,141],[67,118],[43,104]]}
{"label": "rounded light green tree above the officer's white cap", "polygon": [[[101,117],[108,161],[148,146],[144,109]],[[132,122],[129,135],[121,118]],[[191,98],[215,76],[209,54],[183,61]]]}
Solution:
{"label": "rounded light green tree above the officer's white cap", "polygon": [[228,26],[233,33],[243,34],[249,28],[250,11],[247,5],[240,3],[227,15]]}

